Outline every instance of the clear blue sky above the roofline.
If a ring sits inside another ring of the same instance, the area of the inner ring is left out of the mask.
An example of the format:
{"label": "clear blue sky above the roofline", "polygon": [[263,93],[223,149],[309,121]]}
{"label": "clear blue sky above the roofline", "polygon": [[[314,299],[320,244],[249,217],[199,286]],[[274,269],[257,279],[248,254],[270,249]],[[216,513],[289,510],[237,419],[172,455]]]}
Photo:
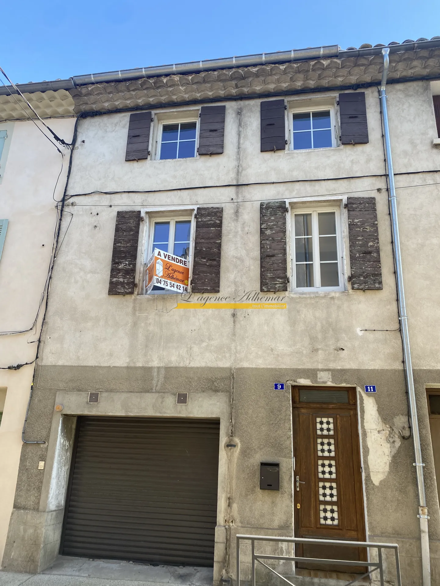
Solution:
{"label": "clear blue sky above the roofline", "polygon": [[0,18],[0,66],[15,83],[440,35],[438,0],[22,0]]}

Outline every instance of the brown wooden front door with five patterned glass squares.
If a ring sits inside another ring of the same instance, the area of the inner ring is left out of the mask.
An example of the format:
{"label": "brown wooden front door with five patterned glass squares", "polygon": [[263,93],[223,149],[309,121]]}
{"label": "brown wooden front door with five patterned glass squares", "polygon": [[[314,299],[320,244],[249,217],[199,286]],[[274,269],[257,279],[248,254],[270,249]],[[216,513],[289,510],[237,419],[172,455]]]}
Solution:
{"label": "brown wooden front door with five patterned glass squares", "polygon": [[[293,387],[295,536],[365,541],[356,389]],[[297,555],[366,560],[364,548],[304,545]],[[362,572],[364,567],[298,563]]]}

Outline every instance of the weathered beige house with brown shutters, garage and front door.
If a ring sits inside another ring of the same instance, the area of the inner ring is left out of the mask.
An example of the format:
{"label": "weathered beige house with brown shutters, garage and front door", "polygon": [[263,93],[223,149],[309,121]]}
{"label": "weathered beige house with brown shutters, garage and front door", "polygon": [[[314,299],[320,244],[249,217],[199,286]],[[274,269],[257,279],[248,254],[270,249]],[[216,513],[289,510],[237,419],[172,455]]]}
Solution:
{"label": "weathered beige house with brown shutters, garage and front door", "polygon": [[[422,584],[381,48],[59,82],[77,133],[26,423],[45,443],[21,449],[2,567],[41,571],[62,553],[235,582],[236,535],[255,534],[398,543],[402,583]],[[440,38],[390,52],[440,584]],[[249,580],[246,551],[241,568]]]}

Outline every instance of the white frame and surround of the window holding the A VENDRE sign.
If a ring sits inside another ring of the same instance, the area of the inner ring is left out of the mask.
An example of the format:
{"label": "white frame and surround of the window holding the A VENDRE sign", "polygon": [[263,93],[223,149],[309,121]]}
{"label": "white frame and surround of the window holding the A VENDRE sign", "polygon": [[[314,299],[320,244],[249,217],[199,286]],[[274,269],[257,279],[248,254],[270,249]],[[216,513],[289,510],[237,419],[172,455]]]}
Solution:
{"label": "white frame and surround of the window holding the A VENDRE sign", "polygon": [[[174,161],[174,159],[168,159]],[[184,160],[184,159],[182,159]],[[188,261],[189,261],[189,282],[191,283],[191,275],[192,275],[192,258],[194,256],[194,239],[195,239],[195,207],[179,207],[175,209],[167,209],[167,210],[141,210],[141,214],[144,219],[144,236],[141,243],[141,254],[138,254],[138,258],[140,258],[139,266],[137,267],[137,274],[138,274],[138,295],[143,295],[144,297],[148,297],[145,295],[143,290],[144,286],[144,268],[148,262],[148,259],[153,252],[153,240],[154,240],[154,224],[157,222],[170,222],[170,234],[168,235],[168,247],[170,247],[170,242],[174,244],[174,233],[175,233],[175,222],[182,222],[182,221],[190,221],[191,222],[191,231],[189,232],[189,254],[188,254]],[[172,222],[172,229],[171,229],[171,222]],[[172,252],[170,253],[172,254]],[[188,288],[190,290],[190,287]],[[166,294],[174,294],[173,291],[154,291],[155,295],[166,295]]]}

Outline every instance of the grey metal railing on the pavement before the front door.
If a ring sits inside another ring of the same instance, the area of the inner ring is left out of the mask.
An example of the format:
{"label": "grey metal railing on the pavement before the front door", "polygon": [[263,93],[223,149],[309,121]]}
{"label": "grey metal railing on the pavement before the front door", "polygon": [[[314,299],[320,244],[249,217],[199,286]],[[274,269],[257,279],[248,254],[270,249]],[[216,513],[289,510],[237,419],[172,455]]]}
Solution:
{"label": "grey metal railing on the pavement before the front door", "polygon": [[[344,586],[351,586],[362,578],[367,576],[371,577],[371,574],[375,571],[379,571],[380,584],[384,586],[384,563],[382,557],[383,549],[394,550],[395,566],[397,575],[397,586],[402,586],[401,575],[400,575],[400,562],[399,562],[399,546],[395,543],[372,543],[371,541],[334,541],[329,539],[303,539],[302,537],[265,537],[262,535],[238,535],[237,536],[237,578],[236,586],[240,586],[240,542],[251,541],[252,549],[252,586],[255,586],[255,561],[262,564],[265,568],[268,568],[271,572],[276,574],[279,578],[290,584],[290,586],[296,586],[293,582],[287,580],[281,574],[277,573],[269,565],[265,564],[262,560],[284,560],[284,561],[302,561],[303,563],[313,564],[326,564],[326,565],[350,565],[358,567],[368,567],[368,571],[364,574],[357,576],[355,580],[347,582]],[[313,545],[332,545],[332,546],[346,546],[346,547],[365,547],[368,549],[377,549],[378,561],[351,561],[351,560],[324,560],[321,558],[314,557],[298,557],[298,556],[270,556],[266,554],[255,553],[255,541],[275,541],[275,543],[307,543]]]}

